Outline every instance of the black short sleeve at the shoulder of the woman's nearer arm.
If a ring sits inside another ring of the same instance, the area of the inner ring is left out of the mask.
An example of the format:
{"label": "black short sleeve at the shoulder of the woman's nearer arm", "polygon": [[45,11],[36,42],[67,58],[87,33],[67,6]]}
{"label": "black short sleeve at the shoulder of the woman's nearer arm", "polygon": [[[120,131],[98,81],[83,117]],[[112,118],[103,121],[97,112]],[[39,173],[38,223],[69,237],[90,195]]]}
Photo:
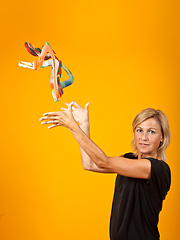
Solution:
{"label": "black short sleeve at the shoulder of the woman's nearer arm", "polygon": [[151,162],[151,178],[149,184],[153,187],[160,200],[164,200],[171,185],[171,171],[162,160],[148,158]]}

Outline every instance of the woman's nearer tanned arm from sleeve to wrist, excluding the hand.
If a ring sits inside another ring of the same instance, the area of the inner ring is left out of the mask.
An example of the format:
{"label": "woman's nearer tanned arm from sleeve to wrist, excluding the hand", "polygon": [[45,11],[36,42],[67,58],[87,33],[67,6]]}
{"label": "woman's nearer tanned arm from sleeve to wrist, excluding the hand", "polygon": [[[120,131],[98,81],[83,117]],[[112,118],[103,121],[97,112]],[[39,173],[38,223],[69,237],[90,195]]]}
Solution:
{"label": "woman's nearer tanned arm from sleeve to wrist, excluding the hand", "polygon": [[78,125],[70,129],[81,148],[102,172],[117,173],[132,178],[150,179],[151,163],[147,159],[132,160],[124,157],[108,157]]}

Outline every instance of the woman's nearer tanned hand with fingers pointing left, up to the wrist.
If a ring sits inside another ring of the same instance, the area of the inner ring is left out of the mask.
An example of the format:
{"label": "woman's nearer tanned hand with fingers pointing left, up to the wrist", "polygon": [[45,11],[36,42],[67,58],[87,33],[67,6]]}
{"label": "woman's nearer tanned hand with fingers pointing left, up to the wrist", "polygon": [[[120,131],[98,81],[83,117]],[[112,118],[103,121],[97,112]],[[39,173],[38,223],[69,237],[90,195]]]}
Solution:
{"label": "woman's nearer tanned hand with fingers pointing left, up to the wrist", "polygon": [[71,130],[73,124],[77,124],[72,114],[73,104],[74,102],[71,102],[68,108],[64,111],[44,113],[43,117],[40,118],[39,121],[42,121],[41,124],[51,124],[48,129],[64,126]]}

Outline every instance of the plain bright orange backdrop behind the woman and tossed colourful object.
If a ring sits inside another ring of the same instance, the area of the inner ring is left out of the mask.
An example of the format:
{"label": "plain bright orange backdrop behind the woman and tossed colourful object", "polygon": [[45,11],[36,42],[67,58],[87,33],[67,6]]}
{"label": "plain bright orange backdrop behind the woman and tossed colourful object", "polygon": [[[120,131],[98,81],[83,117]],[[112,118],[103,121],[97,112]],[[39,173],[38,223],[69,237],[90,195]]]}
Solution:
{"label": "plain bright orange backdrop behind the woman and tossed colourful object", "polygon": [[[166,113],[172,187],[159,229],[162,240],[178,239],[179,1],[1,3],[0,239],[109,239],[115,175],[83,171],[71,133],[39,123],[44,112],[72,100],[91,102],[91,137],[109,156],[131,150],[140,110]],[[74,83],[60,102],[50,92],[50,68],[18,66],[34,60],[25,41],[48,41],[72,71]]]}

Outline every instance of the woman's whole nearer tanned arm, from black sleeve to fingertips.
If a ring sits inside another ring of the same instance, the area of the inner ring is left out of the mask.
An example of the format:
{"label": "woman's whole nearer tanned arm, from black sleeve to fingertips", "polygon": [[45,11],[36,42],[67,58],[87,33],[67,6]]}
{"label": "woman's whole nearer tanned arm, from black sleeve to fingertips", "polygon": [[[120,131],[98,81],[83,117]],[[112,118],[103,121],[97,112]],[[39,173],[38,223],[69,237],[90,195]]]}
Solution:
{"label": "woman's whole nearer tanned arm, from black sleeve to fingertips", "polygon": [[132,160],[123,157],[108,157],[79,127],[72,113],[73,102],[63,112],[45,113],[42,124],[53,124],[49,128],[64,126],[68,128],[80,147],[105,172],[117,173],[132,178],[150,179],[151,164],[147,159]]}

